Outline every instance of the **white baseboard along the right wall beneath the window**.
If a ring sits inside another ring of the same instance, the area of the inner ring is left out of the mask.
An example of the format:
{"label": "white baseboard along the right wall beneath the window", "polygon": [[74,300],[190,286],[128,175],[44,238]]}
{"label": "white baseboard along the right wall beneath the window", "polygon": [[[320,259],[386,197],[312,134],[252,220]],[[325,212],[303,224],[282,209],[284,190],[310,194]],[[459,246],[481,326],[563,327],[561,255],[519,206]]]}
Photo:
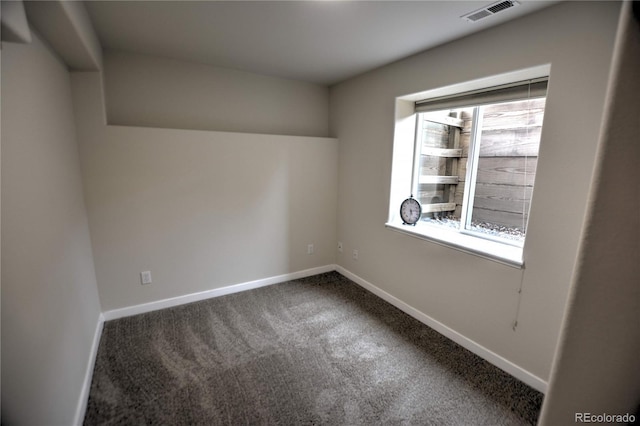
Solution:
{"label": "white baseboard along the right wall beneath the window", "polygon": [[474,354],[485,359],[486,361],[490,362],[491,364],[495,365],[501,370],[511,374],[516,379],[521,380],[522,382],[526,383],[527,385],[531,386],[532,388],[536,389],[539,392],[542,392],[542,393],[547,392],[548,384],[546,381],[542,380],[540,377],[528,372],[522,367],[517,366],[516,364],[507,360],[506,358],[503,358],[502,356],[496,354],[495,352],[492,352],[491,350],[474,342],[468,337],[463,336],[462,334],[447,327],[441,322],[431,318],[430,316],[424,314],[423,312],[420,312],[419,310],[408,305],[407,303],[403,302],[397,297],[390,295],[386,291],[376,287],[375,285],[364,280],[363,278],[360,278],[356,274],[346,270],[342,266],[336,265],[336,271],[338,271],[340,274],[344,275],[345,277],[349,278],[351,281],[355,282],[356,284],[369,290],[370,292],[380,297],[381,299],[391,303],[393,306],[400,309],[404,313],[411,315],[413,318],[417,319],[421,323],[431,327],[432,329],[442,334],[443,336],[453,340],[460,346],[470,350]]}

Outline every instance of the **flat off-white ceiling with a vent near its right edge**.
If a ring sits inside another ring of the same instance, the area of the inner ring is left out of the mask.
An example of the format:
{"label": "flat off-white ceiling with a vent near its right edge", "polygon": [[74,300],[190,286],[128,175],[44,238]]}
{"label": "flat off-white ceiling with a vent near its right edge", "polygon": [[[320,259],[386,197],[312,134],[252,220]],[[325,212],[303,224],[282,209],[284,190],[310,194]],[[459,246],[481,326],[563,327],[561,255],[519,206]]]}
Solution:
{"label": "flat off-white ceiling with a vent near its right edge", "polygon": [[492,1],[88,1],[105,49],[331,85],[537,11],[471,23]]}

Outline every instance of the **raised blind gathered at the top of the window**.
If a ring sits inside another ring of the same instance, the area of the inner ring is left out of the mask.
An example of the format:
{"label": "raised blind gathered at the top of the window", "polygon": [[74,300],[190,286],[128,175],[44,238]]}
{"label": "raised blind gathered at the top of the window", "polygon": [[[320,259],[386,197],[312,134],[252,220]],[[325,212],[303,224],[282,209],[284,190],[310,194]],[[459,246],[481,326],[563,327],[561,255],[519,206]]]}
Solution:
{"label": "raised blind gathered at the top of the window", "polygon": [[453,95],[416,101],[416,112],[430,112],[465,106],[487,105],[499,102],[540,98],[547,94],[548,77],[519,81]]}

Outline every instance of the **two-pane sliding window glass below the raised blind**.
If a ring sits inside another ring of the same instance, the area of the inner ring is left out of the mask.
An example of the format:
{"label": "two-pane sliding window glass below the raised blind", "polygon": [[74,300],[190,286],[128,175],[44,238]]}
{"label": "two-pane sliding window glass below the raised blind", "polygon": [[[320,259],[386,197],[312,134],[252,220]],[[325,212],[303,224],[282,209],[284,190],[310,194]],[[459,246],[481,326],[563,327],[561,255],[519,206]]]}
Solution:
{"label": "two-pane sliding window glass below the raised blind", "polygon": [[522,246],[544,106],[539,97],[419,113],[421,222]]}

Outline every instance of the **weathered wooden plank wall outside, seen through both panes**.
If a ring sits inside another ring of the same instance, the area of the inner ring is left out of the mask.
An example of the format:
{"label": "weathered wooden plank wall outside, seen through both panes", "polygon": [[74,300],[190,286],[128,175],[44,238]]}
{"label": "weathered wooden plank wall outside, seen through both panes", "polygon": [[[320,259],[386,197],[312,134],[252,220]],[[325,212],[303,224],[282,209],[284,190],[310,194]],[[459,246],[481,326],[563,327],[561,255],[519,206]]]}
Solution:
{"label": "weathered wooden plank wall outside, seen through both panes", "polygon": [[[525,230],[543,114],[544,99],[484,108],[474,221]],[[473,110],[458,110],[456,115],[454,123],[425,115],[418,197],[426,212],[459,218]]]}

